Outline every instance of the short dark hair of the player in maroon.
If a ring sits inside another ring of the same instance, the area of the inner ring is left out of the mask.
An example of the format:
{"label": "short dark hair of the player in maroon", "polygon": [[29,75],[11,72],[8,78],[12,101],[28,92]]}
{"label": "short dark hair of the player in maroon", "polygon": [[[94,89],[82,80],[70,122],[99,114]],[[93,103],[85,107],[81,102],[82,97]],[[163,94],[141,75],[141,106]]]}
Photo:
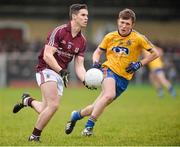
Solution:
{"label": "short dark hair of the player in maroon", "polygon": [[86,4],[72,4],[69,7],[69,17],[72,19],[72,14],[77,14],[77,12],[81,9],[88,9]]}

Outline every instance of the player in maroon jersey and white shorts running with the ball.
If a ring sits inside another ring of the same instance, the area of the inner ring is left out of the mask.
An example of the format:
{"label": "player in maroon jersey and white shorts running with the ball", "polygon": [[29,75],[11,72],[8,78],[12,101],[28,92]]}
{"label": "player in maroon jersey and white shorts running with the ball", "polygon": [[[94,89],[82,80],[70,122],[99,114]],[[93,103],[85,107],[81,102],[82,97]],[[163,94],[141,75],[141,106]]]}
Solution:
{"label": "player in maroon jersey and white shorts running with the ball", "polygon": [[56,27],[47,36],[47,41],[39,55],[36,79],[41,89],[42,101],[37,101],[24,93],[22,102],[14,106],[17,113],[25,106],[32,107],[39,115],[29,141],[39,141],[41,132],[59,107],[63,86],[67,86],[69,72],[66,70],[74,58],[75,72],[84,81],[84,53],[86,39],[81,29],[87,26],[88,9],[85,4],[70,6],[70,22]]}

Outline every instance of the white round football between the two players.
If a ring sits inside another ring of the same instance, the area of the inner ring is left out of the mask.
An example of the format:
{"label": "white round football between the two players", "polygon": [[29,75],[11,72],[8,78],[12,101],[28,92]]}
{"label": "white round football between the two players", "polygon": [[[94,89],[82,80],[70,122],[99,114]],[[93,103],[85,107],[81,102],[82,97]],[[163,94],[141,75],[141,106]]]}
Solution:
{"label": "white round football between the two players", "polygon": [[89,69],[85,74],[85,83],[88,86],[98,87],[103,80],[103,73],[97,68]]}

